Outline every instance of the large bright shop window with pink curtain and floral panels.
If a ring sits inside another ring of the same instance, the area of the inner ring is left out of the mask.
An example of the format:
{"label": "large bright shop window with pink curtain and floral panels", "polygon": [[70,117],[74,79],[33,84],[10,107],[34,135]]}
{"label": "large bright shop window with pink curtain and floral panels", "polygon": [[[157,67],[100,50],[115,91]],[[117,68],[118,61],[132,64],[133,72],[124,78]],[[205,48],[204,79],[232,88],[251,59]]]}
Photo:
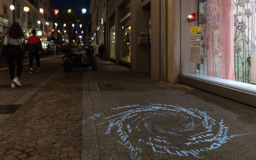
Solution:
{"label": "large bright shop window with pink curtain and floral panels", "polygon": [[200,74],[255,84],[255,0],[199,0],[199,10]]}

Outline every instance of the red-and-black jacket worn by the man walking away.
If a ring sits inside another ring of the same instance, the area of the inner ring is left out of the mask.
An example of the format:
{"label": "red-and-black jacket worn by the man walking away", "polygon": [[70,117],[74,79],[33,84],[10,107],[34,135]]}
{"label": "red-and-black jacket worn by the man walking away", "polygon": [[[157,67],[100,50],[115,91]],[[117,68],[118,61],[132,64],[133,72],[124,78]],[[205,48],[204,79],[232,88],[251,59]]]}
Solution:
{"label": "red-and-black jacket worn by the man walking away", "polygon": [[41,42],[40,38],[36,35],[32,35],[31,37],[29,37],[29,39],[27,41],[26,49],[29,52],[39,52],[39,51],[43,50],[42,42]]}

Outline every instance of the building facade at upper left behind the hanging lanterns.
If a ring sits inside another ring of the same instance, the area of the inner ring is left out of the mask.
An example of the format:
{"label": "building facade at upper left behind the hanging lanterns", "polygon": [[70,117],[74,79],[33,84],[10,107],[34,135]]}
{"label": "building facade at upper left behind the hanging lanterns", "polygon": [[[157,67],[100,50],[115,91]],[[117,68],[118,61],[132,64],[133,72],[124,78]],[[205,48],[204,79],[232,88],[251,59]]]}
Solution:
{"label": "building facade at upper left behind the hanging lanterns", "polygon": [[[25,35],[30,36],[32,29],[43,31],[42,40],[50,41],[54,20],[53,0],[3,0],[0,8],[0,35],[5,35],[13,22],[18,22]],[[14,6],[14,9],[10,9]],[[28,7],[29,11],[25,11]],[[44,12],[39,10],[43,9]]]}

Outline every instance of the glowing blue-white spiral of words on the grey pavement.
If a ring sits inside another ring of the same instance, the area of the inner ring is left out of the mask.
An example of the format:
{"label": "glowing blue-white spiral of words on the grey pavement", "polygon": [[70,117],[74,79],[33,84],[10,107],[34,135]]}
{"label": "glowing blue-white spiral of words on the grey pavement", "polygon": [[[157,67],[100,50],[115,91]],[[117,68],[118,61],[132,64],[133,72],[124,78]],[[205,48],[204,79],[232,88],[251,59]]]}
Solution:
{"label": "glowing blue-white spiral of words on the grey pavement", "polygon": [[[205,111],[196,108],[151,103],[148,106],[131,105],[112,109],[117,114],[107,117],[101,117],[104,113],[94,114],[83,120],[83,123],[106,119],[92,127],[108,125],[105,134],[113,132],[118,135],[117,143],[127,148],[133,160],[143,159],[140,157],[143,149],[132,145],[134,142],[145,143],[152,151],[162,154],[203,159],[201,153],[218,149],[234,137],[249,134],[229,135],[229,127],[224,124],[223,119],[217,122]],[[127,111],[118,113],[121,109]],[[141,134],[150,136],[140,137]],[[179,139],[179,143],[175,143],[175,139]]]}

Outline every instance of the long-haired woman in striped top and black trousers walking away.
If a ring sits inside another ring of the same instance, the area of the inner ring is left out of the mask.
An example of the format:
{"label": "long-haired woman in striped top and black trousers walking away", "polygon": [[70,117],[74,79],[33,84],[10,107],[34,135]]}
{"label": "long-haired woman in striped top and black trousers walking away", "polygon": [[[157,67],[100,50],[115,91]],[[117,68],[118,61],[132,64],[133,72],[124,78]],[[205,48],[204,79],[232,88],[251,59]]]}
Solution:
{"label": "long-haired woman in striped top and black trousers walking away", "polygon": [[[22,86],[20,83],[21,71],[23,69],[23,50],[21,46],[22,38],[28,40],[26,35],[22,32],[20,24],[17,22],[12,23],[9,31],[6,33],[3,45],[7,46],[7,61],[9,67],[10,78],[12,81],[11,87]],[[17,66],[15,76],[15,61]]]}

